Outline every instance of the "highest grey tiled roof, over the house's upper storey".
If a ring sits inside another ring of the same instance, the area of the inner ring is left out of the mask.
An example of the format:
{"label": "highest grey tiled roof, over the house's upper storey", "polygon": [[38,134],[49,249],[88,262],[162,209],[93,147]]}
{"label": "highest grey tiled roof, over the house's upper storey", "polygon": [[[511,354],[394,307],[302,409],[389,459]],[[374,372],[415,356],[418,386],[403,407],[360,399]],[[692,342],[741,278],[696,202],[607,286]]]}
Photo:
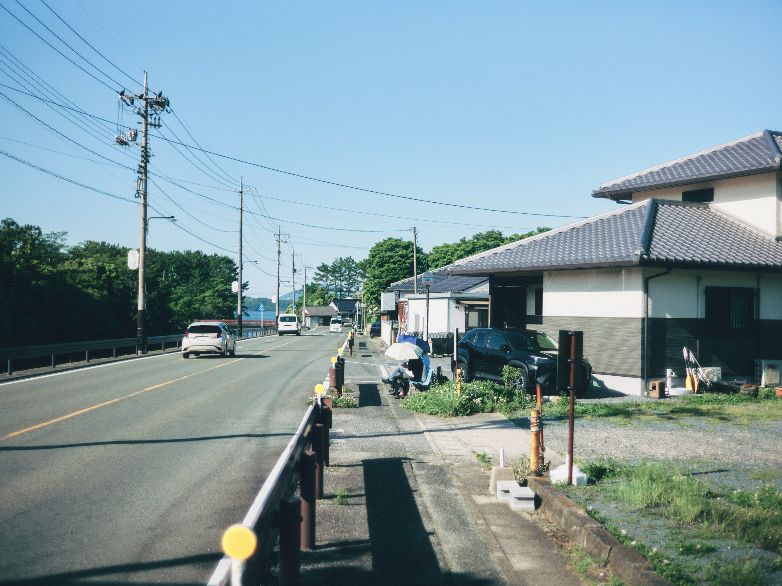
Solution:
{"label": "highest grey tiled roof, over the house's upper storey", "polygon": [[780,134],[782,133],[763,130],[725,145],[620,177],[602,184],[592,192],[592,196],[615,198],[633,191],[779,170],[782,159]]}

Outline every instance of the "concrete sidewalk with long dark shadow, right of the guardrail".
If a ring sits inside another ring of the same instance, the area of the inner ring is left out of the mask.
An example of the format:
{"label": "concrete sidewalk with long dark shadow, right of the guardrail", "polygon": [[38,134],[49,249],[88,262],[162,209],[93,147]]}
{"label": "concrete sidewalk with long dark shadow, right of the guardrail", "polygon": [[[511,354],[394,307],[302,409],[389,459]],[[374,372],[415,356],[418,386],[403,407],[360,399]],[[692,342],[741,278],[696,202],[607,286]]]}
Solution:
{"label": "concrete sidewalk with long dark shadow, right of the guardrail", "polygon": [[489,495],[475,459],[500,447],[518,458],[529,431],[493,414],[443,420],[400,409],[379,381],[382,346],[366,336],[346,360],[359,408],[335,409],[303,584],[585,584],[529,514]]}

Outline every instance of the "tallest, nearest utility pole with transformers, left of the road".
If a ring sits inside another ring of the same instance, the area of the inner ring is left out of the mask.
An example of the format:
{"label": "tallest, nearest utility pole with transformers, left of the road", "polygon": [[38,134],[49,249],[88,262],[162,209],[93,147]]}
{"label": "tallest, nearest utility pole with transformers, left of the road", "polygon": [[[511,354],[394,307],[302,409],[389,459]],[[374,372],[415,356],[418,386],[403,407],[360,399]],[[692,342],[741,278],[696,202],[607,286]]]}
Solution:
{"label": "tallest, nearest utility pole with transformers, left of the road", "polygon": [[[144,72],[144,92],[142,95],[125,95],[125,91],[120,92],[120,100],[126,105],[134,105],[136,100],[143,102],[142,106],[135,106],[135,113],[142,117],[142,162],[139,164],[136,173],[140,175],[136,180],[136,197],[141,198],[141,238],[138,244],[138,313],[136,321],[136,336],[142,346],[142,353],[146,354],[147,331],[146,331],[146,233],[147,233],[147,177],[149,167],[149,135],[147,130],[150,126],[160,128],[160,113],[168,107],[168,98],[163,97],[163,92],[149,94],[147,88],[147,72]],[[152,109],[152,120],[150,120],[149,110]],[[127,136],[119,134],[114,137],[118,145],[138,145],[136,140],[137,130],[129,128]]]}

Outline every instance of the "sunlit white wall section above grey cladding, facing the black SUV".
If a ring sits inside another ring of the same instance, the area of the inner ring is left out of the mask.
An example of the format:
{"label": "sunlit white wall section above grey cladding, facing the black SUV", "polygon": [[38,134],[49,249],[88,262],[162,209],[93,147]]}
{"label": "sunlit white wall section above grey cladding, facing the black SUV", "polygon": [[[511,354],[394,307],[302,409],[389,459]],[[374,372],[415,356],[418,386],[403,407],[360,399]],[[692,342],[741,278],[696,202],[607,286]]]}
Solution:
{"label": "sunlit white wall section above grey cladding, facing the black SUV", "polygon": [[543,316],[643,317],[640,276],[638,267],[547,271]]}

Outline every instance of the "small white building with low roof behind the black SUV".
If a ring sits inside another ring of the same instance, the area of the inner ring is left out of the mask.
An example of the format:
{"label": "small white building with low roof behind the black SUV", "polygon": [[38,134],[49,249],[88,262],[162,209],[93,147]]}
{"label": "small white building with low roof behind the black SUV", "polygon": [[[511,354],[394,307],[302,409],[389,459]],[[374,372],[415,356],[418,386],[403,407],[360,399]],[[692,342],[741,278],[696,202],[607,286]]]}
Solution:
{"label": "small white building with low roof behind the black SUV", "polygon": [[[464,332],[486,327],[489,314],[489,280],[487,277],[452,276],[453,265],[432,270],[429,287],[429,334],[446,334],[454,328]],[[397,319],[400,332],[427,330],[426,287],[421,276],[398,280],[389,285],[398,299]]]}

